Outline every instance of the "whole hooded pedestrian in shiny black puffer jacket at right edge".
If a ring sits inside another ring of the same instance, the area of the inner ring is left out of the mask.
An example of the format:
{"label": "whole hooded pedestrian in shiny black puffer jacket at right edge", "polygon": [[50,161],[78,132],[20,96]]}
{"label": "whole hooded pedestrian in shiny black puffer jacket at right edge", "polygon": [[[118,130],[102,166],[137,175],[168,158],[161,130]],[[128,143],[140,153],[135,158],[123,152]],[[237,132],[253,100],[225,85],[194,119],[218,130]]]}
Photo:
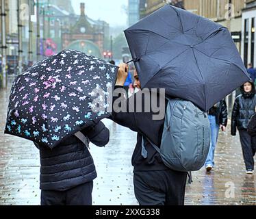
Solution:
{"label": "whole hooded pedestrian in shiny black puffer jacket at right edge", "polygon": [[248,121],[255,114],[256,97],[255,86],[252,81],[244,83],[240,88],[241,94],[235,99],[231,117],[231,135],[235,136],[236,129],[240,134],[242,153],[246,166],[246,173],[253,174],[256,151],[256,137],[247,132]]}

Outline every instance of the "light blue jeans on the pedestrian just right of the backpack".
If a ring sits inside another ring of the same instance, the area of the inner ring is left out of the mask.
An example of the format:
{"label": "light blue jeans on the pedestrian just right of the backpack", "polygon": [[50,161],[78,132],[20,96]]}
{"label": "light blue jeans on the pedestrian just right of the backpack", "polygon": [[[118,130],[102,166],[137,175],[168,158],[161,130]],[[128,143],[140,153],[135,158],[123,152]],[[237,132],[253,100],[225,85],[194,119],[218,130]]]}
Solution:
{"label": "light blue jeans on the pedestrian just right of the backpack", "polygon": [[216,116],[208,115],[209,124],[211,126],[211,143],[209,145],[209,153],[205,162],[205,167],[211,165],[214,167],[214,151],[218,140],[218,130],[220,125],[216,124]]}

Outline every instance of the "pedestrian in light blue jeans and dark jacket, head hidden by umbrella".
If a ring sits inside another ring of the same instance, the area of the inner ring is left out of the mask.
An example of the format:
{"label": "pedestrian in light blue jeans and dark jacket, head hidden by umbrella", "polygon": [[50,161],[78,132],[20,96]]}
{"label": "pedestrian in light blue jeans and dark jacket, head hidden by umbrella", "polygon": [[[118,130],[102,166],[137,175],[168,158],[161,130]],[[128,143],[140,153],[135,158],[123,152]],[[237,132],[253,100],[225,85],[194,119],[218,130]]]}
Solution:
{"label": "pedestrian in light blue jeans and dark jacket, head hidden by umbrella", "polygon": [[227,127],[227,104],[225,100],[216,103],[208,111],[209,123],[211,126],[211,143],[209,146],[209,153],[205,161],[205,168],[209,172],[214,170],[214,151],[218,140],[218,131],[226,130]]}

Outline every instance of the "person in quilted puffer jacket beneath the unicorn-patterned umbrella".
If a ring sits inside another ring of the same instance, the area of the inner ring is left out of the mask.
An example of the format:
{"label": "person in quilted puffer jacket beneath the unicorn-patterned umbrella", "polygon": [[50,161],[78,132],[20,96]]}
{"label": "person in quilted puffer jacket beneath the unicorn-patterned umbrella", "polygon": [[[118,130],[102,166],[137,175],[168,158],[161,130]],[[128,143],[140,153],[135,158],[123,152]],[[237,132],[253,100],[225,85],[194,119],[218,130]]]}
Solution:
{"label": "person in quilted puffer jacket beneath the unicorn-patterned umbrella", "polygon": [[[92,122],[81,133],[97,146],[105,146],[110,137],[110,131],[101,121],[96,125]],[[84,142],[74,135],[52,150],[36,146],[40,150],[41,205],[92,205],[97,172]]]}

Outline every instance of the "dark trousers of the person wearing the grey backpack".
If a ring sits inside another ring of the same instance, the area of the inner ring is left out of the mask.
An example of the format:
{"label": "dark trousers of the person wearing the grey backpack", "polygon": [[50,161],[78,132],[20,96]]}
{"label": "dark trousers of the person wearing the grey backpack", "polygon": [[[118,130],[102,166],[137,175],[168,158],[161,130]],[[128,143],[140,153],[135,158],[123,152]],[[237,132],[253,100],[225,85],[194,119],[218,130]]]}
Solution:
{"label": "dark trousers of the person wearing the grey backpack", "polygon": [[186,172],[136,171],[134,194],[140,205],[184,205]]}

